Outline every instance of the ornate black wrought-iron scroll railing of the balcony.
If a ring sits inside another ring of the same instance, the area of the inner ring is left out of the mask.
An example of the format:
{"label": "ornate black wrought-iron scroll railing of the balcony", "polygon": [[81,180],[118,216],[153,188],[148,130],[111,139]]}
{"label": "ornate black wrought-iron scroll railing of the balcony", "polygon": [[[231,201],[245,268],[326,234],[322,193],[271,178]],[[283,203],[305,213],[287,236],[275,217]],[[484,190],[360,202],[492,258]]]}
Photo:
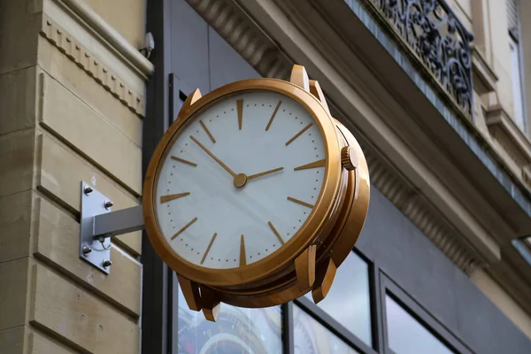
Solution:
{"label": "ornate black wrought-iron scroll railing of the balcony", "polygon": [[402,36],[461,109],[472,117],[469,33],[443,0],[368,0]]}

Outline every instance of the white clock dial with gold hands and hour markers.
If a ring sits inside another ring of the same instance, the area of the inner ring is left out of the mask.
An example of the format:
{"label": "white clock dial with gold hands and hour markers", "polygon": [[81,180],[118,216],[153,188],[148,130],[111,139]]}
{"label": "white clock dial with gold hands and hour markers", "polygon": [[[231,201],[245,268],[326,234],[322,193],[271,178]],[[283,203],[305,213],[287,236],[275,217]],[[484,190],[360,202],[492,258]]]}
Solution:
{"label": "white clock dial with gold hands and hour markers", "polygon": [[196,266],[266,258],[312,213],[326,158],[319,124],[295,100],[266,90],[224,96],[165,150],[153,201],[160,233]]}

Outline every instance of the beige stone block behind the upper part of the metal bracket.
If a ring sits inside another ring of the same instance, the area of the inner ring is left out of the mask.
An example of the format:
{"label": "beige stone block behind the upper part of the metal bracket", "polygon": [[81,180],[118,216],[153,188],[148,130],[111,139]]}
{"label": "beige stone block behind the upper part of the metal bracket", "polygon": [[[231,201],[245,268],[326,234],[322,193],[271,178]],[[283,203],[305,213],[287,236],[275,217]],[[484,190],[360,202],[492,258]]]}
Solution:
{"label": "beige stone block behind the upper part of the metal bracket", "polygon": [[[114,211],[139,204],[126,189],[54,137],[44,134],[38,143],[40,160],[36,185],[67,204],[73,211],[80,212],[81,181],[90,183],[104,196],[108,196],[114,203]],[[142,253],[141,232],[119,237],[129,252],[134,255]]]}

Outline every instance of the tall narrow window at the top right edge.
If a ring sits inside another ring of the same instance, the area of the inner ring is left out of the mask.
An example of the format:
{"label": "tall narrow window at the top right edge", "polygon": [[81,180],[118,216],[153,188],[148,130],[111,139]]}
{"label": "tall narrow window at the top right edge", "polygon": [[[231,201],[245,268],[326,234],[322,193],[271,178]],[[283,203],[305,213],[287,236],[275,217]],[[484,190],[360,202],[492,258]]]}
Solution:
{"label": "tall narrow window at the top right edge", "polygon": [[526,131],[526,119],[522,86],[522,65],[519,43],[519,17],[517,0],[507,0],[507,23],[509,25],[509,50],[511,54],[512,100],[517,126]]}

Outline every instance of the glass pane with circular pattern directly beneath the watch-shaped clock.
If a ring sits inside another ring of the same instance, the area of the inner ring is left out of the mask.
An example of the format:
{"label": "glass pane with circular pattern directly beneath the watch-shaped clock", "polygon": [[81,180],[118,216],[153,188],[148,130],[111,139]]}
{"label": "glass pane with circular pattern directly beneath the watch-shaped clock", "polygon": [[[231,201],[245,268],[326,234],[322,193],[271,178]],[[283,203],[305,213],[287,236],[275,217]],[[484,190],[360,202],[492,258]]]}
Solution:
{"label": "glass pane with circular pattern directly beneath the watch-shaped clock", "polygon": [[280,354],[281,307],[243,309],[221,304],[216,322],[190,311],[179,291],[178,351],[174,354]]}

